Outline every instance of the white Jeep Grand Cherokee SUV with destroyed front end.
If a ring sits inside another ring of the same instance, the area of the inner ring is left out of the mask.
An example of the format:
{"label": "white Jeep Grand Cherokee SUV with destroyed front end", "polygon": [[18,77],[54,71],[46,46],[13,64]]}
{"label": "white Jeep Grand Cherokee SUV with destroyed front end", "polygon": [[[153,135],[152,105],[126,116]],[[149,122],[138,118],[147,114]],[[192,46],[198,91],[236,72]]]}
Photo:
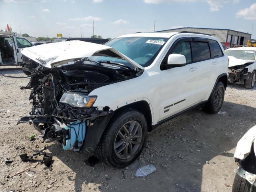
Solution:
{"label": "white Jeep Grand Cherokee SUV with destroyed front end", "polygon": [[65,150],[93,149],[122,168],[147,133],[195,106],[222,107],[228,58],[219,40],[190,33],[136,33],[105,45],[82,41],[22,50],[31,79],[29,116],[42,139]]}

